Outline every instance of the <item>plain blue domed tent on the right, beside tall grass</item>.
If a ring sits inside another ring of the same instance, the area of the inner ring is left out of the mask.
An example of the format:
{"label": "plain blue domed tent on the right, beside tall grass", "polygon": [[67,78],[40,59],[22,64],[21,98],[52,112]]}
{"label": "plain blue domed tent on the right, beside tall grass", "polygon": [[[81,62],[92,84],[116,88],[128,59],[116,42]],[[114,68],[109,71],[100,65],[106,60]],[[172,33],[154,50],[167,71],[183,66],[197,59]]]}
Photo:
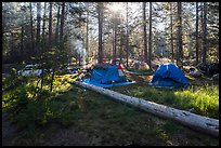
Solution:
{"label": "plain blue domed tent on the right, beside tall grass", "polygon": [[153,75],[150,85],[156,88],[186,88],[188,81],[173,63],[162,64]]}

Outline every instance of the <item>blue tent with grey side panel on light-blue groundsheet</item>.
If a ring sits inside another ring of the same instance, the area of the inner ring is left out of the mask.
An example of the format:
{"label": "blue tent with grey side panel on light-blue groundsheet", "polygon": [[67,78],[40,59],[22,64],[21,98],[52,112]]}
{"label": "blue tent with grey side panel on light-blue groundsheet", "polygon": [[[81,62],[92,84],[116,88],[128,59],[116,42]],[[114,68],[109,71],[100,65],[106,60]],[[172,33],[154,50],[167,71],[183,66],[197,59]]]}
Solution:
{"label": "blue tent with grey side panel on light-blue groundsheet", "polygon": [[102,88],[134,83],[126,79],[121,66],[110,64],[95,65],[90,79],[83,79],[83,82]]}

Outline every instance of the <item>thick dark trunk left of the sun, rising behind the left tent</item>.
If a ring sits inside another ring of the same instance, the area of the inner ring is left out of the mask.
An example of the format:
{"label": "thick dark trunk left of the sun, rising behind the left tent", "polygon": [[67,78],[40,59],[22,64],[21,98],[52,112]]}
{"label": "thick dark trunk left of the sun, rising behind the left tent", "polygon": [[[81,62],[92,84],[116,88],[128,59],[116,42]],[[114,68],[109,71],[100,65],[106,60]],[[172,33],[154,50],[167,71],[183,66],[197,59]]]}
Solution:
{"label": "thick dark trunk left of the sun, rising behind the left tent", "polygon": [[103,28],[103,3],[98,3],[99,11],[99,64],[103,63],[103,43],[102,43],[102,28]]}

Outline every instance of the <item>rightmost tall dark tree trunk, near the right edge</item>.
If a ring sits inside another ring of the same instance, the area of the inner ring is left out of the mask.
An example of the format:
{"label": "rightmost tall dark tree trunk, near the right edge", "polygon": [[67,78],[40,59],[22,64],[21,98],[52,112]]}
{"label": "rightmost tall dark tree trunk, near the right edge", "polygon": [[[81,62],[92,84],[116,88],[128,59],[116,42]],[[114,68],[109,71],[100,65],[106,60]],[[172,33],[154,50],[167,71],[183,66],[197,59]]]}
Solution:
{"label": "rightmost tall dark tree trunk, near the right edge", "polygon": [[203,64],[206,64],[207,57],[207,2],[204,2],[204,23],[203,23]]}

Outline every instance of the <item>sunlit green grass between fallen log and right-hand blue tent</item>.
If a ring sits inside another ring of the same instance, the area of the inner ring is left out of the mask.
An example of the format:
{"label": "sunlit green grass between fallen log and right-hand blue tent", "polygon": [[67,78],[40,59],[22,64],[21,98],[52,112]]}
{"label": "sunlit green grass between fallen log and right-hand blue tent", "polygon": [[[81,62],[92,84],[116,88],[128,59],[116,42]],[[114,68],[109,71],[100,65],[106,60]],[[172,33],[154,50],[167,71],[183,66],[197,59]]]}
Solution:
{"label": "sunlit green grass between fallen log and right-hand blue tent", "polygon": [[194,108],[198,115],[219,119],[218,85],[192,85],[186,90],[167,90],[155,89],[146,84],[112,90],[178,109]]}

